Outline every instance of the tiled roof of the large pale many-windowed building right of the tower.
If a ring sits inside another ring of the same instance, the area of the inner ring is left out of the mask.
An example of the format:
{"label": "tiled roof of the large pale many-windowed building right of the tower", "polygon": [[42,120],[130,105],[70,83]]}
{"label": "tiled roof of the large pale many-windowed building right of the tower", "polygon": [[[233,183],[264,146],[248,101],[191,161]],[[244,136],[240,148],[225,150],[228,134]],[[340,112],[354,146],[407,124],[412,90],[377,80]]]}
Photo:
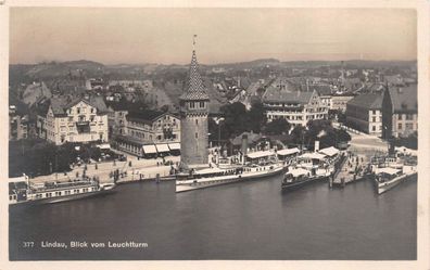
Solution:
{"label": "tiled roof of the large pale many-windowed building right of the tower", "polygon": [[269,86],[263,95],[263,101],[266,102],[287,102],[295,104],[307,104],[314,92],[307,91],[290,91],[290,88],[279,89]]}

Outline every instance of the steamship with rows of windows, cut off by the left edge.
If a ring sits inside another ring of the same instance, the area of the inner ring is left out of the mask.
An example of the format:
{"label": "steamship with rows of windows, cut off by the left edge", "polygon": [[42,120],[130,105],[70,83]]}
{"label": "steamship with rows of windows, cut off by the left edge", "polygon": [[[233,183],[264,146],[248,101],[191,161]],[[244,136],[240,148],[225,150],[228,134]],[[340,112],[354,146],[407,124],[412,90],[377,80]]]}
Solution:
{"label": "steamship with rows of windows, cut off by the left edge", "polygon": [[115,183],[100,183],[81,178],[69,181],[53,181],[35,184],[27,176],[9,182],[9,205],[52,204],[79,200],[113,192]]}

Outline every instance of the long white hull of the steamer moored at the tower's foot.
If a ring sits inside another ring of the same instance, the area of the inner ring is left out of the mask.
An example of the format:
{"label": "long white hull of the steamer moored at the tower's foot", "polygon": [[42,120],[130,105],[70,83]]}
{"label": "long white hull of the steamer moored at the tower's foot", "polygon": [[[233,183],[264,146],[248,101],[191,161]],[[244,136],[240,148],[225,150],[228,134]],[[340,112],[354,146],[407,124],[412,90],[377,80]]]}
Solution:
{"label": "long white hull of the steamer moored at the tower's foot", "polygon": [[208,179],[199,179],[195,182],[191,183],[177,183],[176,184],[176,192],[186,192],[199,189],[211,188],[215,185],[235,183],[240,181],[249,181],[254,179],[261,179],[266,177],[271,177],[279,175],[283,171],[283,167],[276,167],[273,170],[268,171],[260,171],[260,172],[250,172],[250,173],[242,173],[242,175],[231,175],[231,176],[220,176],[220,177],[213,177]]}

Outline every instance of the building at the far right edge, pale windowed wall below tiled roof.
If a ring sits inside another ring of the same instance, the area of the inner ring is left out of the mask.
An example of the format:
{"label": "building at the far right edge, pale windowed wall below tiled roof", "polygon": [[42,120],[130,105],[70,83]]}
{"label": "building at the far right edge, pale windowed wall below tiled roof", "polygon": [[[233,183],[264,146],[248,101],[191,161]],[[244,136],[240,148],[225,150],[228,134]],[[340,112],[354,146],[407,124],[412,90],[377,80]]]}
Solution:
{"label": "building at the far right edge, pale windowed wall below tiled roof", "polygon": [[407,137],[418,131],[417,85],[390,87],[392,134]]}

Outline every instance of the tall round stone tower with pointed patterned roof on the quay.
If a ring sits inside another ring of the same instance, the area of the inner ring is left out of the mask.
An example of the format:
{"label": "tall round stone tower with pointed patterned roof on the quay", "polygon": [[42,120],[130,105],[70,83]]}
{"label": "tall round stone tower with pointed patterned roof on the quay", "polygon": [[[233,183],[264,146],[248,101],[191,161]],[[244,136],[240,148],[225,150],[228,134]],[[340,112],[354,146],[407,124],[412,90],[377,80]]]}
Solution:
{"label": "tall round stone tower with pointed patterned roof on the quay", "polygon": [[199,73],[195,50],[192,51],[189,78],[180,105],[180,167],[206,167],[207,115],[210,98]]}

